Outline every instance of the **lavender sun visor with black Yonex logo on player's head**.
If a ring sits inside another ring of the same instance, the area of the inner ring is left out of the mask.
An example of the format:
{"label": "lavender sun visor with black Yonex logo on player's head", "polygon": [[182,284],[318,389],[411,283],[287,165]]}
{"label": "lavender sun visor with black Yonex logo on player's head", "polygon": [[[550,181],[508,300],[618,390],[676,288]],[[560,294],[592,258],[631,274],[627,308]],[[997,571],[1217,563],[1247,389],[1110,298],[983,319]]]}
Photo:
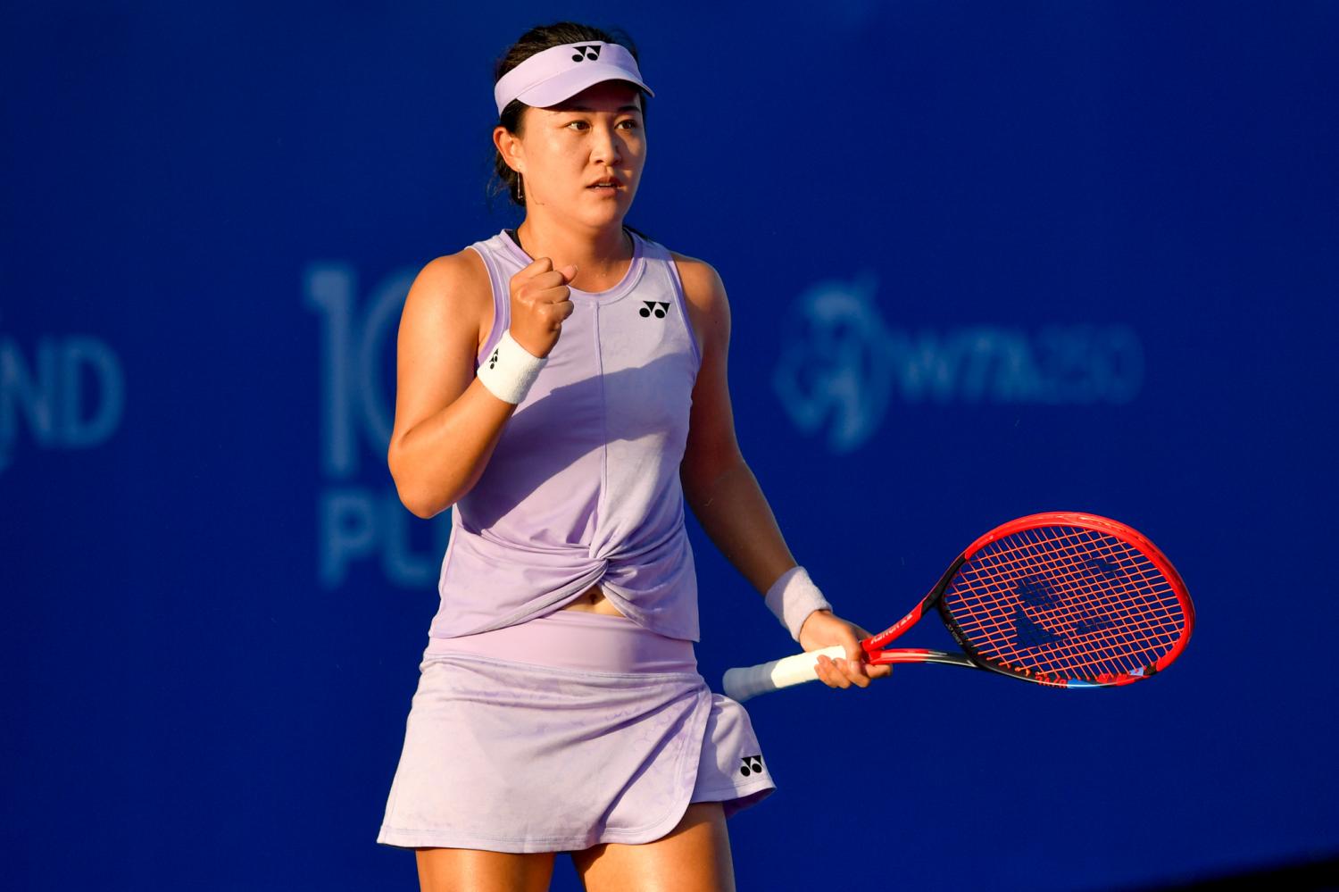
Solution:
{"label": "lavender sun visor with black Yonex logo on player's head", "polygon": [[502,75],[493,87],[493,100],[498,115],[513,99],[546,108],[604,80],[627,80],[648,96],[656,95],[641,79],[637,60],[627,47],[597,40],[564,43],[534,54]]}

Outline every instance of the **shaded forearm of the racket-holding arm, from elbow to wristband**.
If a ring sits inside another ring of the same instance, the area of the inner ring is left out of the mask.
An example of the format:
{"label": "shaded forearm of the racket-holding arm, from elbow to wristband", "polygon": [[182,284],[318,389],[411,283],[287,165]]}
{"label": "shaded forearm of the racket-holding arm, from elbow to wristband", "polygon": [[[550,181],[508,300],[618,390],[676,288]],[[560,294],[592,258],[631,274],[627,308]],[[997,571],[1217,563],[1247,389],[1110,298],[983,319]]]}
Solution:
{"label": "shaded forearm of the racket-holding arm, from elbow to wristband", "polygon": [[759,592],[795,565],[753,470],[740,459],[714,479],[684,481],[684,498],[707,537]]}

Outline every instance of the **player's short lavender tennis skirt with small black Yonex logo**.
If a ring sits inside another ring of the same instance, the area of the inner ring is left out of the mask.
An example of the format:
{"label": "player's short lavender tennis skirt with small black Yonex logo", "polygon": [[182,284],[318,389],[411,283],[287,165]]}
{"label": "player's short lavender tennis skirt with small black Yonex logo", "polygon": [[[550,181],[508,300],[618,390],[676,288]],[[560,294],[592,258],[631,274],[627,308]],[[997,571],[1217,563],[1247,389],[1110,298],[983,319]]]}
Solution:
{"label": "player's short lavender tennis skirt with small black Yonex logo", "polygon": [[570,852],[649,842],[690,802],[726,817],[775,785],[744,707],[692,642],[560,609],[434,638],[378,842]]}

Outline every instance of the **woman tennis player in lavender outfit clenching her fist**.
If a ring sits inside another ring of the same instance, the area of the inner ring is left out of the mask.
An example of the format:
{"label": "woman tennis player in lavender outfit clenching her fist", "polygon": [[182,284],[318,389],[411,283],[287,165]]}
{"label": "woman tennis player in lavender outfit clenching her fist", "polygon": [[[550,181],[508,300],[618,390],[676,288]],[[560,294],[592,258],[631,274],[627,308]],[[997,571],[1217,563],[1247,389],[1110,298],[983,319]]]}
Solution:
{"label": "woman tennis player in lavender outfit clenching her fist", "polygon": [[623,224],[653,94],[620,38],[510,47],[493,139],[524,222],[428,263],[400,320],[391,474],[416,516],[455,506],[378,836],[423,889],[545,889],[560,852],[595,892],[734,888],[726,818],[775,788],[698,674],[684,502],[805,650],[845,646],[826,684],[888,674],[739,453],[720,277]]}

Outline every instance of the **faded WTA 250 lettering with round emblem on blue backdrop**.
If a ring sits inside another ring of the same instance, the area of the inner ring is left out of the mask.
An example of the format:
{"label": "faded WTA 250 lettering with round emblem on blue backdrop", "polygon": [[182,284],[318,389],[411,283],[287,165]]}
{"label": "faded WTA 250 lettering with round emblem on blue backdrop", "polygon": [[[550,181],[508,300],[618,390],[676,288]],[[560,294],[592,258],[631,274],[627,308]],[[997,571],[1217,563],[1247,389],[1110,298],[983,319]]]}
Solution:
{"label": "faded WTA 250 lettering with round emblem on blue backdrop", "polygon": [[889,327],[874,279],[821,283],[790,309],[773,387],[805,433],[849,453],[882,425],[888,404],[1126,403],[1144,382],[1129,325]]}

